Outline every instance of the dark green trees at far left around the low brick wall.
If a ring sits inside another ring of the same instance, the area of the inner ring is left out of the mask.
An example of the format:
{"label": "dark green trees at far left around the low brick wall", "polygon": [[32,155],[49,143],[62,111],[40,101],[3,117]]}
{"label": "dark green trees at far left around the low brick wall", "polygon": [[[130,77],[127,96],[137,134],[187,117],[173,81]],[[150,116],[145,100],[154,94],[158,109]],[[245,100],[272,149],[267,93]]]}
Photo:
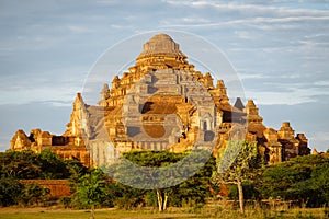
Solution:
{"label": "dark green trees at far left around the low brick wall", "polygon": [[43,203],[48,188],[20,180],[79,178],[88,169],[76,160],[61,160],[49,150],[0,152],[0,206],[32,206]]}

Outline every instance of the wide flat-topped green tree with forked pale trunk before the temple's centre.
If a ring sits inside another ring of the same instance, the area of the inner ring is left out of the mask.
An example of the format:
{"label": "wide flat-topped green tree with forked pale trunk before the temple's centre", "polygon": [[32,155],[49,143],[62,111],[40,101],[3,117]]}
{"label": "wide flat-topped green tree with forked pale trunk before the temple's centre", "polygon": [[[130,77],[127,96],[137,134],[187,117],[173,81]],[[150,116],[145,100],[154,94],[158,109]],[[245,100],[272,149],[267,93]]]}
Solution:
{"label": "wide flat-topped green tree with forked pale trunk before the temple's centre", "polygon": [[[182,200],[204,201],[209,195],[211,177],[216,163],[209,151],[195,150],[190,153],[132,151],[125,153],[124,158],[105,172],[123,184],[140,187],[139,197],[147,196],[154,200],[155,196],[146,192],[154,189],[159,211],[167,209],[168,201],[180,206]],[[136,188],[131,189],[134,194],[138,194]]]}

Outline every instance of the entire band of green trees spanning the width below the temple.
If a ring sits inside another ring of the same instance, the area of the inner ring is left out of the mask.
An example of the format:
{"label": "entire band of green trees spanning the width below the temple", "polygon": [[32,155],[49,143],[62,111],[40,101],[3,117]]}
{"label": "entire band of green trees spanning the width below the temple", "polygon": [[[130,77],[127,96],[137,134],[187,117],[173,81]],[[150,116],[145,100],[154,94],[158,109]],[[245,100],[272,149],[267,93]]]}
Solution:
{"label": "entire band of green trees spanning the width below the temple", "polygon": [[[146,169],[127,168],[129,165]],[[156,171],[147,172],[148,168]],[[146,177],[150,173],[152,175]],[[0,176],[1,206],[43,201],[49,191],[20,181],[29,178],[69,178],[72,195],[60,200],[73,208],[152,206],[162,211],[168,206],[203,205],[208,197],[218,194],[223,183],[230,186],[232,199],[294,200],[307,207],[329,205],[327,153],[262,165],[257,147],[248,142],[228,143],[217,160],[205,150],[132,151],[106,169],[87,169],[77,160],[61,160],[48,150],[41,153],[7,151],[0,153]],[[128,186],[135,182],[135,187]],[[143,184],[138,184],[140,182]],[[170,185],[170,182],[177,184]]]}

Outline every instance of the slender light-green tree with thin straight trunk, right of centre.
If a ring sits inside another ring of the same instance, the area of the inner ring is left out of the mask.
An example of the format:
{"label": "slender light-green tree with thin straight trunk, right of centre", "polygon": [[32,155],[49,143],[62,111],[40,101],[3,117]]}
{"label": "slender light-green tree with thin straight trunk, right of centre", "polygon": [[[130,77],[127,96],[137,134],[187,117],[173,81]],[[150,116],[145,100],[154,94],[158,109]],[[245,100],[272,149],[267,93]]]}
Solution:
{"label": "slender light-green tree with thin straight trunk, right of centre", "polygon": [[257,180],[261,164],[256,143],[228,141],[226,148],[219,151],[216,181],[219,184],[237,185],[241,212],[245,212],[242,183]]}

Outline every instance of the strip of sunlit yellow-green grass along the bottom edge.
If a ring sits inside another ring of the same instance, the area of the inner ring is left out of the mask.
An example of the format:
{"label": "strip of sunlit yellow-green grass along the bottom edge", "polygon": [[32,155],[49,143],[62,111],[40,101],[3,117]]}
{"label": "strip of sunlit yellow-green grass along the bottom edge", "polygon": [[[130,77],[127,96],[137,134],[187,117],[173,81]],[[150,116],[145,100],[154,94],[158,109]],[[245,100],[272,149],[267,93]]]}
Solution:
{"label": "strip of sunlit yellow-green grass along the bottom edge", "polygon": [[[261,210],[247,209],[242,215],[232,209],[195,209],[195,208],[170,208],[166,212],[158,212],[156,209],[118,210],[114,208],[98,209],[97,219],[112,218],[155,218],[155,219],[174,219],[174,218],[224,218],[224,219],[280,219],[280,218],[317,218],[326,219],[329,212],[325,208],[295,208],[288,210]],[[70,209],[49,209],[49,208],[0,208],[0,219],[72,219],[90,218],[89,210]]]}

